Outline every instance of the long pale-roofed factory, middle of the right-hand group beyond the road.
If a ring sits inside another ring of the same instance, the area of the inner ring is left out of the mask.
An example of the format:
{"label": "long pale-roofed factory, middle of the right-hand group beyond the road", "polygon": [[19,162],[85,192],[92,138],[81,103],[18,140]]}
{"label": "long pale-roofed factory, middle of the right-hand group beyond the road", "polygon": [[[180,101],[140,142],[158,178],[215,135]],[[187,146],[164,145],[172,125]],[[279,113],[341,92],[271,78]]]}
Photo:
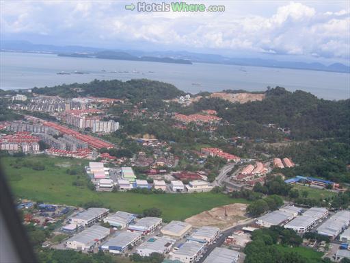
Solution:
{"label": "long pale-roofed factory, middle of the right-hand group beyond the road", "polygon": [[328,214],[325,208],[310,208],[301,216],[297,216],[292,221],[284,225],[284,228],[293,229],[298,234],[304,234],[310,231],[312,227],[321,222]]}

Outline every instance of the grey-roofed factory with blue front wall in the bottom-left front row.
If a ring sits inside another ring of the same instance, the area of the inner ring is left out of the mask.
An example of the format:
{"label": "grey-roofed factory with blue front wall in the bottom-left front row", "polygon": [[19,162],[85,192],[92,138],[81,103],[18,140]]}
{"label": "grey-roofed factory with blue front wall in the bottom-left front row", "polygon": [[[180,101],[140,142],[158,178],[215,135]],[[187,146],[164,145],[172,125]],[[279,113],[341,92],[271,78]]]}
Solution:
{"label": "grey-roofed factory with blue front wall in the bottom-left front row", "polygon": [[120,254],[123,253],[129,246],[134,246],[142,238],[142,234],[133,232],[120,232],[105,244],[98,247],[98,249],[113,253]]}

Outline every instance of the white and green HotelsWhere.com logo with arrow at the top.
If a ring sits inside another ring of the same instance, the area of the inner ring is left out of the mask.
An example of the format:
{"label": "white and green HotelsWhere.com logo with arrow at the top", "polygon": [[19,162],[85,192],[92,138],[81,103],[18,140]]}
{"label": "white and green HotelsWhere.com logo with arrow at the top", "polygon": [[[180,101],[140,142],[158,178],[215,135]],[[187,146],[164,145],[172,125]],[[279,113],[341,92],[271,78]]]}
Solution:
{"label": "white and green HotelsWhere.com logo with arrow at the top", "polygon": [[224,12],[225,5],[205,5],[204,3],[146,3],[137,2],[125,5],[126,10],[137,12]]}

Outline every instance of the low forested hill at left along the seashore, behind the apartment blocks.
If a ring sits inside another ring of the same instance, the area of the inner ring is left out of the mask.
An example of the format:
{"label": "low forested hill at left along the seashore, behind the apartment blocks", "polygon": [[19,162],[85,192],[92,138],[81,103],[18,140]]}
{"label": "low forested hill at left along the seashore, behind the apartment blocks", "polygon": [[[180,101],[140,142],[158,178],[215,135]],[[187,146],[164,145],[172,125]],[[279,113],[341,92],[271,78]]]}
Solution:
{"label": "low forested hill at left along the seashore, behind the apartment blocks", "polygon": [[173,99],[185,92],[172,84],[148,79],[132,79],[127,82],[120,80],[97,80],[85,84],[63,84],[53,87],[33,88],[40,95],[59,96],[64,98],[91,95],[111,99],[130,99],[133,102],[143,99]]}

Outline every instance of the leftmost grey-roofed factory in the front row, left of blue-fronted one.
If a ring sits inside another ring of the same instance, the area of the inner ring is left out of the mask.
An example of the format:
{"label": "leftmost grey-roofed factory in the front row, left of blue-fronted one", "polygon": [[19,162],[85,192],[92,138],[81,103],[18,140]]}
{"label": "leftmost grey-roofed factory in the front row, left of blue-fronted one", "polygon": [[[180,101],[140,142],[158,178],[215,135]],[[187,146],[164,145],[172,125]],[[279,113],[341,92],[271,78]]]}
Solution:
{"label": "leftmost grey-roofed factory in the front row, left of blue-fronted one", "polygon": [[72,236],[66,241],[68,249],[79,251],[92,249],[94,246],[103,242],[109,236],[109,229],[100,225],[93,225],[79,234]]}

